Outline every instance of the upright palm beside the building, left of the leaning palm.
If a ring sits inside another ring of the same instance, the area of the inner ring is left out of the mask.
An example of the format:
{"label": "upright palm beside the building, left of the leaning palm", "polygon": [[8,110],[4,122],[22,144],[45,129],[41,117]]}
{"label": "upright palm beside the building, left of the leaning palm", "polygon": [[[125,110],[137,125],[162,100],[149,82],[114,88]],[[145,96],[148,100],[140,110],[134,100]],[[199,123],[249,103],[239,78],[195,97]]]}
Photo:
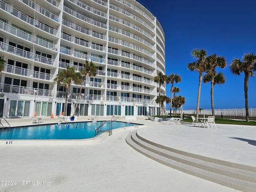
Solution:
{"label": "upright palm beside the building, left of the leaning palm", "polygon": [[76,72],[75,67],[69,67],[67,66],[66,69],[62,69],[59,71],[57,76],[53,80],[55,83],[61,86],[66,87],[66,92],[65,92],[65,116],[67,116],[67,100],[68,100],[68,90],[69,86],[72,82],[75,84],[80,84],[81,83],[81,75],[80,73]]}

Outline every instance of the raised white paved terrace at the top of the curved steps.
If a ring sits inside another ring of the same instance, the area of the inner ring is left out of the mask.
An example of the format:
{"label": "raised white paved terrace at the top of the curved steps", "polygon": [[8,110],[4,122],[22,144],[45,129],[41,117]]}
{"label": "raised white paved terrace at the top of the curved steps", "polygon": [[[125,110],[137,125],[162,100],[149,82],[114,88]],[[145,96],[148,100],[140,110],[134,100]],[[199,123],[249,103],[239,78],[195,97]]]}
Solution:
{"label": "raised white paved terrace at the top of the curved steps", "polygon": [[208,130],[189,125],[158,124],[139,130],[139,134],[189,153],[256,166],[256,126],[217,124],[217,130]]}

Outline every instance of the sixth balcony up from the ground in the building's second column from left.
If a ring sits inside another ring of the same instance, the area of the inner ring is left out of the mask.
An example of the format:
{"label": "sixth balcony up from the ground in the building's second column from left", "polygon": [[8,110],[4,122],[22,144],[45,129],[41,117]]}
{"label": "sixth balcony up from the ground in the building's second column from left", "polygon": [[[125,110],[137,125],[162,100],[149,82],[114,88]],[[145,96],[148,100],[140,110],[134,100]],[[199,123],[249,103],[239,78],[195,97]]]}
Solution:
{"label": "sixth balcony up from the ground in the building's second column from left", "polygon": [[65,25],[66,27],[70,28],[70,29],[74,29],[76,31],[79,31],[82,34],[93,36],[95,38],[99,38],[99,39],[102,39],[102,40],[107,40],[107,37],[105,35],[102,35],[100,33],[88,30],[88,29],[80,27],[80,26],[77,26],[74,23],[71,23],[71,22],[69,22],[65,19],[62,20],[62,24]]}

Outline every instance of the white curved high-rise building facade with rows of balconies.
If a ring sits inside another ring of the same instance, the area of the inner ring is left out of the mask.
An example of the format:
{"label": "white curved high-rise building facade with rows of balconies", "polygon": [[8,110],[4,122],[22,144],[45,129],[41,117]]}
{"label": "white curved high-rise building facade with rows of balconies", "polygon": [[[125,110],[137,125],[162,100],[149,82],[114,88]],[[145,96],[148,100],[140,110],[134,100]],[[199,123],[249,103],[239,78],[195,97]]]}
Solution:
{"label": "white curved high-rise building facade with rows of balconies", "polygon": [[156,115],[154,77],[165,73],[164,31],[134,0],[0,0],[0,116],[62,114],[65,87],[53,82],[66,66],[97,66],[68,90],[68,113]]}

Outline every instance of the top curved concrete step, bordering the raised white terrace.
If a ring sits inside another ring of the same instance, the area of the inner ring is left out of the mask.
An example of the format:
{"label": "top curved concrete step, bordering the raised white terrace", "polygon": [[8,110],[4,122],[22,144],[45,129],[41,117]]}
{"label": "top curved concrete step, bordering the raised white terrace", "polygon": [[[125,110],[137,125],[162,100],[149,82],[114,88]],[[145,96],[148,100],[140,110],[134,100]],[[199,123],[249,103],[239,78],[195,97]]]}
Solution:
{"label": "top curved concrete step, bordering the raised white terrace", "polygon": [[206,161],[206,162],[210,162],[210,163],[216,163],[216,164],[219,164],[219,165],[229,166],[229,167],[233,167],[233,168],[236,168],[236,169],[241,169],[241,170],[246,170],[246,171],[250,171],[250,172],[255,172],[256,173],[256,167],[255,166],[250,166],[250,165],[244,165],[244,164],[239,164],[239,163],[234,163],[234,162],[223,161],[221,159],[215,159],[215,158],[212,158],[212,157],[206,157],[206,156],[202,156],[202,155],[192,154],[192,153],[188,153],[186,151],[174,149],[174,148],[171,148],[171,147],[166,147],[166,146],[160,145],[158,143],[149,141],[149,140],[143,138],[138,133],[137,133],[137,137],[139,139],[141,139],[142,141],[145,141],[145,142],[149,143],[150,145],[153,145],[153,146],[165,149],[165,150],[169,150],[169,151],[171,151],[173,153],[177,153],[177,154],[180,154],[180,155],[185,155],[185,156],[192,157],[192,158],[197,158],[197,159],[200,159],[202,161]]}

